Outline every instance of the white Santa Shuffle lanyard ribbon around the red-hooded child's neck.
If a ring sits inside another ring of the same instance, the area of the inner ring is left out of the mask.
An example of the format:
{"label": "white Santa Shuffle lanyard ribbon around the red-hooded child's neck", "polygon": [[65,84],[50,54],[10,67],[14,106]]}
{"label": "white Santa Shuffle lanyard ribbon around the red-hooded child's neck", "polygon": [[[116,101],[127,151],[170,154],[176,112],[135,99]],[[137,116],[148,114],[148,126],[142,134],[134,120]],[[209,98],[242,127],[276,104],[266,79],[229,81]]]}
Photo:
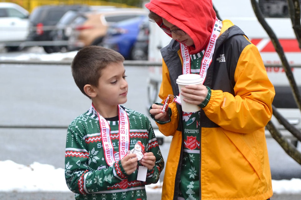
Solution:
{"label": "white Santa Shuffle lanyard ribbon around the red-hooded child's neck", "polygon": [[[211,33],[211,37],[206,47],[206,51],[204,53],[202,64],[201,64],[200,76],[202,78],[202,84],[205,82],[208,68],[212,62],[216,39],[220,34],[220,30],[222,26],[223,26],[222,21],[220,21],[218,18],[215,18],[214,28]],[[181,43],[181,54],[183,59],[183,74],[189,74],[191,72],[190,55],[188,53],[187,46],[182,43]]]}

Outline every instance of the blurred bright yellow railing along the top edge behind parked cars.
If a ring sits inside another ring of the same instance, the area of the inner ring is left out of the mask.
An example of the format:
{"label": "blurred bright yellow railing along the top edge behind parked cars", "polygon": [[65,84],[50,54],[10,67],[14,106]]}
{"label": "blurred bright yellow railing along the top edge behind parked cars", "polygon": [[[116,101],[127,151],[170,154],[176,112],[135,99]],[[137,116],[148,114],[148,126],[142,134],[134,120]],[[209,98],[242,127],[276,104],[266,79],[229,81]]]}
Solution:
{"label": "blurred bright yellow railing along the top edge behind parked cars", "polygon": [[114,3],[99,0],[0,0],[0,2],[16,3],[28,10],[29,12],[31,12],[35,7],[43,5],[85,4],[93,6],[115,6],[118,8],[134,8],[133,6],[126,5],[125,3]]}

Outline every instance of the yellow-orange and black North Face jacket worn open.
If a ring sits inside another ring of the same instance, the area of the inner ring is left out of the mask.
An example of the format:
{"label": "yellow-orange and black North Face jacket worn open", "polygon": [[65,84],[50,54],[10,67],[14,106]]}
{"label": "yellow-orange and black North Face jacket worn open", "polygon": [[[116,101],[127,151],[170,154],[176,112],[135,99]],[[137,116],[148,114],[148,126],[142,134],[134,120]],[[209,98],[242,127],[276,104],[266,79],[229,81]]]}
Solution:
{"label": "yellow-orange and black North Face jacket worn open", "polygon": [[[162,84],[159,97],[178,95],[182,74],[179,42],[161,50]],[[223,21],[212,63],[204,82],[211,98],[201,109],[200,199],[259,200],[272,196],[265,125],[272,117],[275,90],[259,51],[239,27]],[[166,162],[162,200],[177,199],[182,166],[182,110],[169,105],[170,122],[159,130],[173,136]]]}

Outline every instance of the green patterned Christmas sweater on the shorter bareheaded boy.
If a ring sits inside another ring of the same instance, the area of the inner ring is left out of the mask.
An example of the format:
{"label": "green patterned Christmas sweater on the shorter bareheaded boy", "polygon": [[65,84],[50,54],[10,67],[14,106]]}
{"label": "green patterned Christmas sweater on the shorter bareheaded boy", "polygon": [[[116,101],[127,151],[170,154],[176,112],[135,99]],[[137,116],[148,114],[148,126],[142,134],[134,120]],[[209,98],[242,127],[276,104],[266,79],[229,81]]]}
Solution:
{"label": "green patterned Christmas sweater on the shorter bareheaded boy", "polygon": [[[76,193],[75,199],[143,200],[146,199],[145,185],[158,182],[164,160],[150,120],[134,110],[124,109],[129,118],[129,149],[141,141],[145,152],[155,155],[155,167],[147,170],[146,181],[142,182],[137,181],[138,170],[127,175],[120,160],[109,166],[104,156],[98,114],[91,106],[75,118],[67,130],[65,178],[69,189]],[[118,117],[107,121],[114,152],[119,152]]]}

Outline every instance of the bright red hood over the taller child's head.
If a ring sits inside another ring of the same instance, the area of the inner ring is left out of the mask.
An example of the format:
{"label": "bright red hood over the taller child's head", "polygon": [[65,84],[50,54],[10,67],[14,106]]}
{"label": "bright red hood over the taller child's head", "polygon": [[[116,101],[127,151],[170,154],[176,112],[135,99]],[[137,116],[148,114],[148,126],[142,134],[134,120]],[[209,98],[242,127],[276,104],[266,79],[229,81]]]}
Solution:
{"label": "bright red hood over the taller child's head", "polygon": [[190,54],[199,53],[208,44],[216,17],[212,0],[150,0],[145,7],[193,39],[194,46],[188,47]]}

